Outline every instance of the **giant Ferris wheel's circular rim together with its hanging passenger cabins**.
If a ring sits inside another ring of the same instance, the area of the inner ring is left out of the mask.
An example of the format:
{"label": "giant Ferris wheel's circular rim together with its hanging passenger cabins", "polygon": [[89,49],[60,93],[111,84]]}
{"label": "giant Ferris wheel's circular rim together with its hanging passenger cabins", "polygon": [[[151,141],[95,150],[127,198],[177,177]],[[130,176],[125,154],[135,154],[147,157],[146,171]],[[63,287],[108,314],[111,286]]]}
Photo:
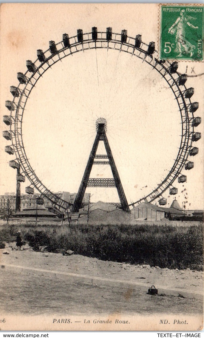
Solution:
{"label": "giant Ferris wheel's circular rim together with its hanging passenger cabins", "polygon": [[170,195],[177,194],[178,189],[174,187],[174,181],[178,179],[178,183],[186,182],[187,177],[181,173],[182,170],[190,170],[194,167],[194,163],[188,160],[188,156],[194,156],[199,151],[193,144],[201,138],[201,133],[194,131],[194,128],[201,123],[200,117],[194,117],[199,104],[198,102],[191,102],[194,88],[186,87],[187,75],[180,75],[177,72],[177,62],[170,63],[168,60],[159,60],[155,43],[146,44],[142,42],[140,34],[133,38],[127,35],[127,30],[122,30],[121,33],[113,33],[111,27],[108,27],[105,32],[98,32],[97,27],[92,27],[92,31],[89,33],[83,33],[82,29],[78,29],[77,35],[73,37],[69,37],[65,33],[59,43],[50,41],[49,48],[46,51],[38,49],[37,59],[34,62],[26,61],[27,71],[25,73],[18,72],[18,86],[10,87],[13,99],[5,102],[10,115],[3,116],[4,123],[10,128],[3,131],[3,137],[11,141],[11,144],[5,147],[5,151],[16,156],[16,159],[9,161],[9,165],[17,169],[17,184],[25,182],[26,176],[30,181],[30,186],[26,187],[28,194],[33,194],[34,188],[36,188],[42,196],[52,201],[54,206],[57,205],[64,209],[70,206],[70,203],[51,192],[32,169],[24,148],[22,122],[27,100],[42,75],[65,57],[90,49],[113,49],[131,54],[133,57],[140,59],[141,62],[147,63],[155,72],[158,72],[173,92],[182,125],[177,157],[167,176],[162,182],[159,182],[156,189],[129,204],[129,206],[135,206],[144,201],[152,202],[158,199],[160,205],[165,205],[167,200],[163,198],[163,193],[169,189]]}

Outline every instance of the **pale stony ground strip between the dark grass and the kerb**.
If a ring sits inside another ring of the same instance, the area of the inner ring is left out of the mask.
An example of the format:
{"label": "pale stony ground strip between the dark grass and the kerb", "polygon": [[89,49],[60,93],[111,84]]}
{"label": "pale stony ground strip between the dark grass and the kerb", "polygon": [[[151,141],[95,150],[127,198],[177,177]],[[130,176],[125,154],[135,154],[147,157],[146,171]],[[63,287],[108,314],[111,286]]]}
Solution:
{"label": "pale stony ground strip between the dark grass and the kerb", "polygon": [[[71,272],[89,276],[105,277],[112,280],[134,281],[154,285],[156,288],[168,287],[182,291],[203,291],[203,272],[184,269],[161,269],[150,265],[130,265],[111,261],[102,261],[97,258],[84,257],[72,254],[35,252],[26,244],[23,250],[17,251],[15,243],[7,243],[1,249],[1,264],[12,264],[46,270]],[[3,254],[8,252],[8,254]]]}

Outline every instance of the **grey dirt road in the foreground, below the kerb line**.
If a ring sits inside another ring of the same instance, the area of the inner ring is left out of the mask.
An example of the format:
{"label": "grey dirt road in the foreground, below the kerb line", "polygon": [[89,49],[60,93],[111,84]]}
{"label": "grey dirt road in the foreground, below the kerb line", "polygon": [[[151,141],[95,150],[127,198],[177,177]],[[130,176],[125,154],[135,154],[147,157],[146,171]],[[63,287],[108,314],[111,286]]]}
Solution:
{"label": "grey dirt road in the foreground, below the kerb line", "polygon": [[[5,288],[6,285],[6,288]],[[1,313],[8,314],[196,314],[202,300],[150,296],[122,287],[96,286],[42,276],[4,271],[0,279]]]}

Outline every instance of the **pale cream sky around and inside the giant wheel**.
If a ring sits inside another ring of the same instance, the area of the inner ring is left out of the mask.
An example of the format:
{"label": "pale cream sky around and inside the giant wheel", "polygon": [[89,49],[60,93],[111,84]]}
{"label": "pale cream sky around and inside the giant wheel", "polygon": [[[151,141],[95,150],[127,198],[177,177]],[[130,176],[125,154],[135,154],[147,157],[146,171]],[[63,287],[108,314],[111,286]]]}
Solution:
{"label": "pale cream sky around and inside the giant wheel", "polygon": [[[49,41],[74,36],[77,29],[92,26],[113,32],[127,29],[142,35],[158,49],[158,8],[105,4],[3,4],[1,6],[1,133],[7,130],[2,116],[8,115],[5,100],[12,100],[10,86],[18,86],[17,72],[26,71],[26,60],[36,59],[36,50],[47,50]],[[19,20],[19,17],[24,20]],[[142,20],[139,20],[142,18]],[[7,24],[9,22],[9,24]],[[3,28],[2,28],[3,27]],[[178,71],[190,75],[186,86],[194,87],[193,101],[203,117],[203,63],[180,62]],[[146,63],[114,50],[89,50],[68,56],[49,69],[32,90],[23,116],[23,142],[30,165],[45,186],[54,192],[77,192],[96,136],[95,121],[107,120],[107,137],[128,203],[150,193],[167,175],[180,145],[181,119],[166,81]],[[203,125],[196,131],[203,131]],[[100,142],[101,143],[101,142]],[[8,166],[14,156],[4,152],[9,141],[2,138],[0,194],[16,190],[16,172]],[[203,139],[195,143],[199,154],[194,169],[183,170],[185,184],[176,195],[180,206],[203,209]],[[105,153],[100,145],[97,153]],[[90,177],[112,177],[109,166],[94,166]],[[25,192],[29,180],[21,184]],[[116,189],[87,188],[91,200],[119,202]],[[169,191],[167,207],[173,201]]]}

